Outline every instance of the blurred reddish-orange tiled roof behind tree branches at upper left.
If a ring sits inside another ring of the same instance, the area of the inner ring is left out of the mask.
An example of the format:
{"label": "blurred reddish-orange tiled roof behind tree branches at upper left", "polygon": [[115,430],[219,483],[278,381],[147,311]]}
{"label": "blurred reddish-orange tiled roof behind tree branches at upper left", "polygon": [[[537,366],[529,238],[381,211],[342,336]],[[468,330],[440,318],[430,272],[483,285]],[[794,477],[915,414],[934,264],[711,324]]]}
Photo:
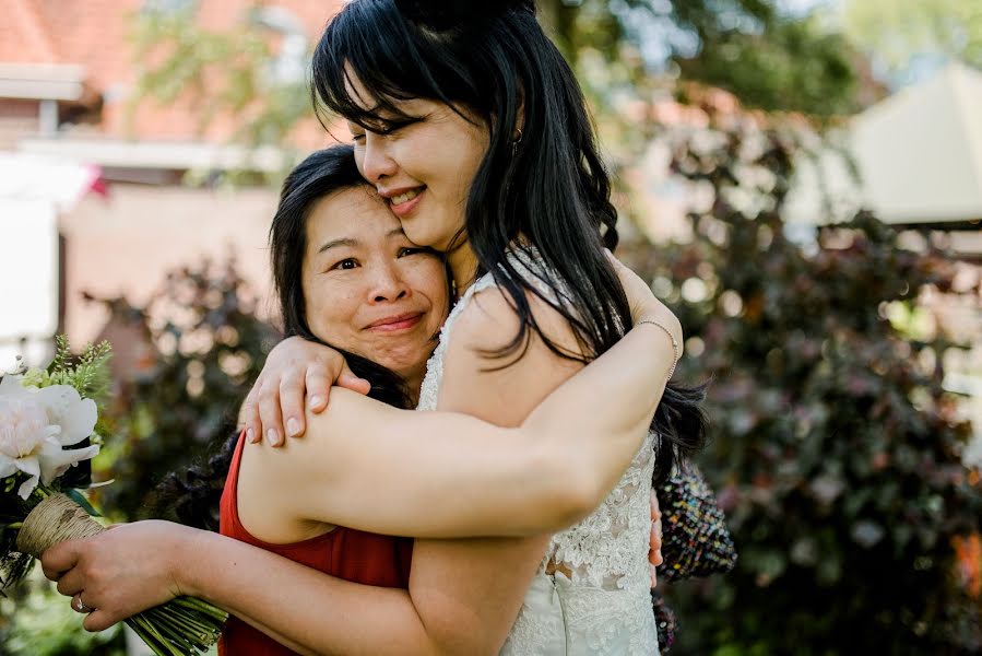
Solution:
{"label": "blurred reddish-orange tiled roof behind tree branches at upper left", "polygon": [[[189,99],[162,107],[143,103],[127,121],[127,96],[138,74],[131,43],[131,22],[145,0],[7,0],[0,21],[0,62],[74,63],[86,69],[86,86],[102,93],[105,104],[99,134],[147,140],[199,140],[202,107]],[[229,30],[257,5],[292,12],[313,42],[342,5],[342,0],[199,0],[198,21],[211,30]],[[222,117],[205,134],[208,141],[224,141],[237,127],[233,117]],[[79,130],[93,130],[92,127]],[[313,147],[326,140],[312,120],[298,126],[299,144]]]}

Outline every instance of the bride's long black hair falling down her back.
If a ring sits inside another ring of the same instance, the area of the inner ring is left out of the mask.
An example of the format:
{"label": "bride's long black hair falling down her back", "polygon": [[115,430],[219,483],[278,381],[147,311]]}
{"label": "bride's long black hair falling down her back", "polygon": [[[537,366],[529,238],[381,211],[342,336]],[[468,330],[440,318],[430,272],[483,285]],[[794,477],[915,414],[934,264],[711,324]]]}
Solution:
{"label": "bride's long black hair falling down her back", "polygon": [[[364,107],[350,71],[371,94]],[[482,120],[489,148],[471,187],[460,239],[480,269],[511,297],[521,327],[499,356],[521,356],[536,331],[556,353],[591,360],[630,327],[624,290],[604,247],[617,246],[617,212],[579,84],[543,33],[528,0],[423,2],[353,0],[331,21],[313,54],[315,104],[367,130],[411,121],[399,102],[442,102]],[[519,108],[522,139],[514,143]],[[510,258],[531,243],[556,277],[541,293]],[[572,326],[585,358],[553,343],[535,323],[527,293],[548,302]],[[655,480],[705,442],[702,387],[671,384],[652,427],[661,435]]]}

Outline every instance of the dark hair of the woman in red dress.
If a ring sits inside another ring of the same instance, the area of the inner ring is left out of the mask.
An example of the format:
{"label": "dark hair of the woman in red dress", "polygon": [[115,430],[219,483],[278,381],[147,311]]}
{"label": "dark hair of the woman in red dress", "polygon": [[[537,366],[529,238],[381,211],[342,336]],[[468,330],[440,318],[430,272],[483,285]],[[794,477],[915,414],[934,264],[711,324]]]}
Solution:
{"label": "dark hair of the woman in red dress", "polygon": [[[336,145],[313,153],[284,180],[280,204],[270,227],[270,257],[285,337],[298,336],[327,344],[313,335],[307,323],[301,279],[307,249],[307,216],[321,198],[364,185],[366,183],[355,166],[351,145]],[[413,395],[397,373],[367,358],[327,345],[341,352],[352,371],[371,383],[368,396],[397,408],[413,406]],[[188,526],[216,530],[218,501],[237,442],[238,435],[230,435],[216,445],[206,461],[187,471],[167,475],[154,495],[156,509],[173,514]]]}

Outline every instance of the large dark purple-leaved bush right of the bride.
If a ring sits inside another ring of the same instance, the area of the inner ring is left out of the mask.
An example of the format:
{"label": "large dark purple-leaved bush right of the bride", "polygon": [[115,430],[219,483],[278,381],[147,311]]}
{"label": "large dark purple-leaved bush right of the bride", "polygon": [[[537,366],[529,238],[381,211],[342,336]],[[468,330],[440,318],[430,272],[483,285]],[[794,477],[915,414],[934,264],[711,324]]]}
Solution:
{"label": "large dark purple-leaved bush right of the bride", "polygon": [[865,213],[792,243],[801,125],[691,97],[709,129],[670,132],[673,165],[711,201],[690,244],[627,261],[686,327],[682,379],[713,375],[701,465],[741,558],[667,590],[673,651],[978,653],[982,488],[942,385],[958,345],[901,319],[928,293],[979,294],[979,272]]}

